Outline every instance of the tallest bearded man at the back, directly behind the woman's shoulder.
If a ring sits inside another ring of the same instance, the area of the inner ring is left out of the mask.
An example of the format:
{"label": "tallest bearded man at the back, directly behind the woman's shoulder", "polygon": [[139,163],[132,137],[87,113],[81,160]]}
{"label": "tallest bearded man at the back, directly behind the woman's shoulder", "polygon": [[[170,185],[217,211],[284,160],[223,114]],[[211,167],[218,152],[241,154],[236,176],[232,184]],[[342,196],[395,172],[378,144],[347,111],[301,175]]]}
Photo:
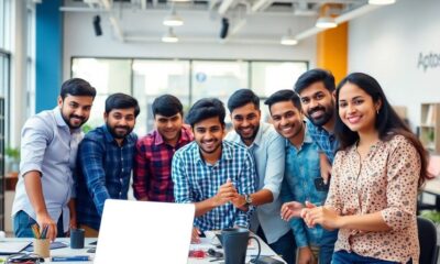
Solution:
{"label": "tallest bearded man at the back, directly behind the woman's shoulder", "polygon": [[324,69],[310,69],[299,76],[295,91],[301,98],[302,112],[311,122],[308,125],[311,139],[320,152],[321,176],[328,184],[331,164],[338,150],[334,131],[334,77]]}

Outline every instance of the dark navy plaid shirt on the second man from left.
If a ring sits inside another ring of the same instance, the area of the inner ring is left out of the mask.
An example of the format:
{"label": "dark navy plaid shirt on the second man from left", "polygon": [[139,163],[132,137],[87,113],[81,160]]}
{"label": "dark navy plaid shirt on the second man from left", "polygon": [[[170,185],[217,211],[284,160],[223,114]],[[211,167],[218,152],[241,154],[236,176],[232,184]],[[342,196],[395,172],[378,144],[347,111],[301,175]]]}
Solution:
{"label": "dark navy plaid shirt on the second man from left", "polygon": [[119,146],[106,125],[86,134],[78,150],[78,223],[99,230],[106,199],[128,199],[136,140],[131,133]]}

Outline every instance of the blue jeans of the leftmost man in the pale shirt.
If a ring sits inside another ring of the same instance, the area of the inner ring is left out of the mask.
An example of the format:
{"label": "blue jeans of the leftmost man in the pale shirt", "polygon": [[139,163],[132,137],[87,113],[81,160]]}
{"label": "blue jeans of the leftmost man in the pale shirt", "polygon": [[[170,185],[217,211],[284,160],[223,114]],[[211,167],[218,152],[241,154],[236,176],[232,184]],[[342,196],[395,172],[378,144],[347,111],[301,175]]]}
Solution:
{"label": "blue jeans of the leftmost man in the pale shirt", "polygon": [[[16,212],[13,219],[15,238],[33,238],[34,234],[32,233],[31,227],[35,223],[36,221],[24,211]],[[66,237],[63,228],[63,215],[59,217],[58,222],[56,223],[56,229],[58,231],[58,238]]]}

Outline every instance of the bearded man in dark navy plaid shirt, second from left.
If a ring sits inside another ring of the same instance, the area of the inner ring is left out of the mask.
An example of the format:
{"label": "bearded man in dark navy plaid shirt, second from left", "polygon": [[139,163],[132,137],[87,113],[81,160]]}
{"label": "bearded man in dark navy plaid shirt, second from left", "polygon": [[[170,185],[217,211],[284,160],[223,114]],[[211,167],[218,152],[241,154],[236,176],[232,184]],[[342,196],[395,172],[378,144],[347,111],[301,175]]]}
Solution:
{"label": "bearded man in dark navy plaid shirt, second from left", "polygon": [[128,199],[138,136],[132,133],[140,112],[138,101],[124,94],[106,100],[106,124],[86,134],[78,150],[78,227],[98,237],[106,199]]}

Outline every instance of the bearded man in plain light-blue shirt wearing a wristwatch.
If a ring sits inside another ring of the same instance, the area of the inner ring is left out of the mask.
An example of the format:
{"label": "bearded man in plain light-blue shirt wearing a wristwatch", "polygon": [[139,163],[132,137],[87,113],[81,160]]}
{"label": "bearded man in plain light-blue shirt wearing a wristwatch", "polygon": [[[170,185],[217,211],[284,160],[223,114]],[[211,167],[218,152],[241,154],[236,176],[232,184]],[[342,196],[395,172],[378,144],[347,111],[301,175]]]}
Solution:
{"label": "bearded man in plain light-blue shirt wearing a wristwatch", "polygon": [[234,131],[226,140],[249,150],[256,166],[256,193],[238,195],[233,205],[256,207],[251,230],[288,264],[295,263],[295,239],[287,222],[279,217],[279,190],[284,177],[284,140],[271,124],[261,122],[260,98],[250,89],[237,90],[228,100]]}

